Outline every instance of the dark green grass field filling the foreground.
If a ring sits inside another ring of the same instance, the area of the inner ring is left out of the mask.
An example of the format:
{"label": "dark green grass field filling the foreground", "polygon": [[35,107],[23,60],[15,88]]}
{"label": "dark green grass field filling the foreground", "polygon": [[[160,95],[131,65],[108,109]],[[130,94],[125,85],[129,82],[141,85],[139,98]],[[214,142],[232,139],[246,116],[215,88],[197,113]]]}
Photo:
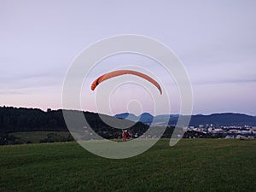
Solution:
{"label": "dark green grass field filling the foreground", "polygon": [[160,140],[110,160],[77,143],[0,147],[0,191],[256,191],[256,140]]}

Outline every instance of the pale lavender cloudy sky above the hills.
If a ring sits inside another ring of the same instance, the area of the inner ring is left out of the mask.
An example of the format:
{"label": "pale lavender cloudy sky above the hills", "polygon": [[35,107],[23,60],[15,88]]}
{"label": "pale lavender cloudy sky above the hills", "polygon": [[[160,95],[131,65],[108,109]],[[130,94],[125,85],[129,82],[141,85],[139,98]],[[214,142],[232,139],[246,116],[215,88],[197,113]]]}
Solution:
{"label": "pale lavender cloudy sky above the hills", "polygon": [[[243,0],[0,0],[0,106],[61,108],[68,67],[84,48],[109,36],[139,34],[166,44],[183,62],[193,86],[193,113],[256,115],[255,10],[256,1]],[[122,58],[161,70],[134,55],[105,62],[111,69]],[[176,92],[166,89],[175,101]],[[95,111],[89,95],[83,108]]]}

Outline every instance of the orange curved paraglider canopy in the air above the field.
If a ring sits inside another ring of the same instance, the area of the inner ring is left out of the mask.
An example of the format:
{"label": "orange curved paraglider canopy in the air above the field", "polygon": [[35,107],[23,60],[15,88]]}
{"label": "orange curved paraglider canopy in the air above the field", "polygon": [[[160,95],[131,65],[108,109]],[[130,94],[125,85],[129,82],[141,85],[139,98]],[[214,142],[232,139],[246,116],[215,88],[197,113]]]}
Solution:
{"label": "orange curved paraglider canopy in the air above the field", "polygon": [[99,78],[94,80],[94,82],[90,85],[90,89],[95,90],[96,86],[98,84],[101,84],[103,81],[117,77],[119,75],[125,75],[125,74],[137,75],[138,77],[148,80],[150,83],[154,84],[154,86],[156,86],[156,88],[160,91],[160,94],[162,94],[160,84],[158,84],[154,79],[150,78],[148,75],[146,75],[144,73],[140,73],[140,72],[132,71],[132,70],[117,70],[117,71],[103,74],[102,76],[100,76]]}

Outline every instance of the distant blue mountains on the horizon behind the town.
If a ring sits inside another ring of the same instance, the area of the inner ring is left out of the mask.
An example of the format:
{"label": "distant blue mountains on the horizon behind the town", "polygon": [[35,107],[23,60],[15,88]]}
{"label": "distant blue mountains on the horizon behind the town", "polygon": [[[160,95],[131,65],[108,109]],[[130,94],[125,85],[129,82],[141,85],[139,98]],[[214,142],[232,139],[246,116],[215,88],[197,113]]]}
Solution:
{"label": "distant blue mountains on the horizon behind the town", "polygon": [[[119,119],[129,119],[132,121],[140,121],[143,124],[151,125],[165,125],[168,122],[168,125],[176,125],[178,114],[162,114],[153,116],[150,113],[142,113],[139,116],[136,116],[132,113],[120,113],[116,114],[115,117]],[[154,122],[153,122],[154,120]],[[210,115],[196,114],[191,116],[189,125],[198,126],[198,125],[216,125],[216,126],[256,126],[256,117],[242,114],[242,113],[213,113]]]}

